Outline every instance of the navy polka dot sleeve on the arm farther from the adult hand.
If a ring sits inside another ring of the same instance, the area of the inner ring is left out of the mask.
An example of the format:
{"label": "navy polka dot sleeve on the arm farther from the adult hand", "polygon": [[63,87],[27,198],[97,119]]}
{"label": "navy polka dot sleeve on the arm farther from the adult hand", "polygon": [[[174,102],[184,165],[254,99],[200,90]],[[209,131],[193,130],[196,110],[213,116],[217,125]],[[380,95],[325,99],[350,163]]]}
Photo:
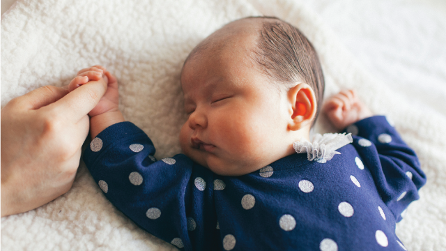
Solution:
{"label": "navy polka dot sleeve on the arm farther from the adult hand", "polygon": [[419,199],[418,190],[426,183],[426,176],[415,151],[392,125],[385,116],[373,116],[357,121],[346,131],[355,135],[353,145],[362,159],[360,165],[370,169],[381,198],[398,222],[408,204]]}

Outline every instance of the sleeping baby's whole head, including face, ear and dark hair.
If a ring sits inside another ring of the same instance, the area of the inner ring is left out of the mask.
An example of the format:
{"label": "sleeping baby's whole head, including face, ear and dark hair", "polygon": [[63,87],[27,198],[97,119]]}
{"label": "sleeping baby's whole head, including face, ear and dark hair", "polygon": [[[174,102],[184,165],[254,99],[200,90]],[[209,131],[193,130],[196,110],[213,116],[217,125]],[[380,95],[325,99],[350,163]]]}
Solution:
{"label": "sleeping baby's whole head, including face, ear and dark hair", "polygon": [[323,99],[316,51],[290,24],[248,17],[226,24],[187,57],[181,73],[185,155],[239,176],[295,153]]}

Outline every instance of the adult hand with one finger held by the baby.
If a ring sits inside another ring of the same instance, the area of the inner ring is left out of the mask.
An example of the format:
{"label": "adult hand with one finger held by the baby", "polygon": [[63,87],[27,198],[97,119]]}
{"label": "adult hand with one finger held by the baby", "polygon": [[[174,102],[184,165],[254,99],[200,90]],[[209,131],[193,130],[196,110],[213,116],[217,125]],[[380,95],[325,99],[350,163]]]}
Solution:
{"label": "adult hand with one finger held by the baby", "polygon": [[89,132],[87,115],[105,81],[43,86],[0,109],[0,217],[23,213],[68,192]]}

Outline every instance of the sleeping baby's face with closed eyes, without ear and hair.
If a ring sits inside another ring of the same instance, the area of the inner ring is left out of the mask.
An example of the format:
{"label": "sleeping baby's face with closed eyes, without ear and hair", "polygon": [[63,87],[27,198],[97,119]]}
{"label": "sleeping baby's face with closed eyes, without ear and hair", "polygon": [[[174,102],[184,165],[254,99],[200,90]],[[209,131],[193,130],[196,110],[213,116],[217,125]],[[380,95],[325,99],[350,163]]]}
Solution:
{"label": "sleeping baby's face with closed eyes, without ear and hair", "polygon": [[243,33],[224,45],[211,43],[183,68],[189,118],[181,128],[181,148],[216,174],[248,174],[293,153],[284,144],[286,95],[249,60],[255,38]]}

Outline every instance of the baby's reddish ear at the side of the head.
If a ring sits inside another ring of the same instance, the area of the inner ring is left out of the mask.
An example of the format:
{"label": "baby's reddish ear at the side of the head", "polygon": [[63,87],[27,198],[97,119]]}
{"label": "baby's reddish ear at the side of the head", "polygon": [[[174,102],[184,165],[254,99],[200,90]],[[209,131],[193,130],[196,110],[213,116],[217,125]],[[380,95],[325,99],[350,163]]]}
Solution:
{"label": "baby's reddish ear at the side of the head", "polygon": [[316,96],[312,87],[300,83],[289,89],[289,130],[300,130],[305,126],[311,126],[316,115]]}

